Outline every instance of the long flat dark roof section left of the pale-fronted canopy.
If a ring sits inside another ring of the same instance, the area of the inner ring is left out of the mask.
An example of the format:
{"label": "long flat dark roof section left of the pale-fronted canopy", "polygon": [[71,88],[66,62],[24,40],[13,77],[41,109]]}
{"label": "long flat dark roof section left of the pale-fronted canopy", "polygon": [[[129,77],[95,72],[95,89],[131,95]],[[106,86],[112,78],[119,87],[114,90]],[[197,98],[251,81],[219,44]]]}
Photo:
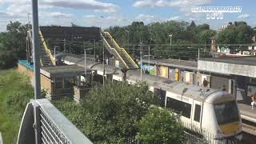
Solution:
{"label": "long flat dark roof section left of the pale-fronted canopy", "polygon": [[[144,63],[148,63],[148,60],[142,60]],[[198,69],[198,62],[194,61],[185,61],[179,59],[152,59],[150,60],[150,64],[153,65],[161,65],[161,66],[172,66],[172,67],[179,67],[189,70],[197,70]]]}

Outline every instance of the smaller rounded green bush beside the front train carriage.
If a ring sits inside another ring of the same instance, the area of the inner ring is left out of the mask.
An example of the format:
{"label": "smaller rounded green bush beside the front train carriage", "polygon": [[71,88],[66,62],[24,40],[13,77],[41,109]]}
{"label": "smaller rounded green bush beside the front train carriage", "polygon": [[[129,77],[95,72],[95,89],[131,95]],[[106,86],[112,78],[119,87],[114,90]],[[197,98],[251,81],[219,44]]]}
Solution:
{"label": "smaller rounded green bush beside the front train carriage", "polygon": [[184,129],[179,117],[170,110],[150,108],[138,124],[138,139],[141,143],[182,143]]}

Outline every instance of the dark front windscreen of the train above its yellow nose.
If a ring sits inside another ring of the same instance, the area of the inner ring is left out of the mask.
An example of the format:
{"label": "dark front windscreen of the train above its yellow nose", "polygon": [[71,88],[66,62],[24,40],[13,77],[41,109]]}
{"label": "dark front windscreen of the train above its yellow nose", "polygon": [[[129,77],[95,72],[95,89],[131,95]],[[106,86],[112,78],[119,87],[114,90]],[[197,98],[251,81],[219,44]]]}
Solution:
{"label": "dark front windscreen of the train above its yellow nose", "polygon": [[214,110],[218,125],[239,121],[238,107],[234,101],[214,104]]}

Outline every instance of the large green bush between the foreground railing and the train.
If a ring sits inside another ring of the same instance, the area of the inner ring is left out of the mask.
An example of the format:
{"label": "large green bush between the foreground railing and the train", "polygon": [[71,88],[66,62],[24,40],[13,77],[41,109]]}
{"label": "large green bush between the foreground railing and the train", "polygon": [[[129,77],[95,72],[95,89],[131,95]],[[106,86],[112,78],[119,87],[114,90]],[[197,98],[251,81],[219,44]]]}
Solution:
{"label": "large green bush between the foreground railing and the train", "polygon": [[54,105],[94,143],[124,143],[138,133],[137,123],[158,97],[145,83],[110,83],[90,90],[81,104],[62,99]]}

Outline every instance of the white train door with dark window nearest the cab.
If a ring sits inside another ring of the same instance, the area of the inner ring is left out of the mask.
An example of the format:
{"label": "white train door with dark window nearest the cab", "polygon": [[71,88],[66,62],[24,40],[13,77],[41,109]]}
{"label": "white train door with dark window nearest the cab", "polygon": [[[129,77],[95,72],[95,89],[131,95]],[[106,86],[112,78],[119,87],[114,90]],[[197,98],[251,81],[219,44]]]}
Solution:
{"label": "white train door with dark window nearest the cab", "polygon": [[192,130],[201,133],[201,121],[202,121],[202,102],[193,102],[193,113],[192,113]]}

